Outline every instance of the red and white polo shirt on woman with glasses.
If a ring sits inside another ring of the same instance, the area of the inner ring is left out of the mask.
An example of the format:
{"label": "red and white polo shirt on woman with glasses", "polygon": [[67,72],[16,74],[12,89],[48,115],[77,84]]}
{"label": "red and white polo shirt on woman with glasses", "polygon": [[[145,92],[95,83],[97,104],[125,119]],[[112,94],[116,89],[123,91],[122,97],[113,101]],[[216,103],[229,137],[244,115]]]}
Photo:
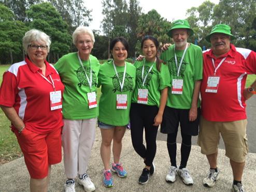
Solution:
{"label": "red and white polo shirt on woman with glasses", "polygon": [[[64,85],[58,72],[48,62],[45,64],[45,77],[51,82],[51,76],[55,90],[63,93]],[[3,75],[0,105],[14,107],[27,129],[46,134],[63,126],[62,112],[61,109],[51,111],[50,92],[54,89],[38,72],[42,73],[41,69],[28,58],[11,65]]]}

